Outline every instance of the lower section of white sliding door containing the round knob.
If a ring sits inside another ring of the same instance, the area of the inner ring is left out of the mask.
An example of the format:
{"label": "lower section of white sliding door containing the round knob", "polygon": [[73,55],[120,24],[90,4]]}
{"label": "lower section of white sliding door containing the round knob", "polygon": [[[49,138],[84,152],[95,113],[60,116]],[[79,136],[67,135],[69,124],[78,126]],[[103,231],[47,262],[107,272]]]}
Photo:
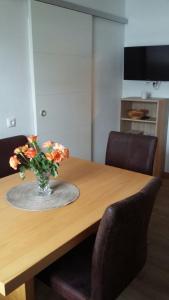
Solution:
{"label": "lower section of white sliding door containing the round knob", "polygon": [[[37,96],[37,122],[41,140],[53,139],[69,147],[71,155],[90,159],[91,102],[87,93]],[[41,109],[47,116],[41,117]]]}

